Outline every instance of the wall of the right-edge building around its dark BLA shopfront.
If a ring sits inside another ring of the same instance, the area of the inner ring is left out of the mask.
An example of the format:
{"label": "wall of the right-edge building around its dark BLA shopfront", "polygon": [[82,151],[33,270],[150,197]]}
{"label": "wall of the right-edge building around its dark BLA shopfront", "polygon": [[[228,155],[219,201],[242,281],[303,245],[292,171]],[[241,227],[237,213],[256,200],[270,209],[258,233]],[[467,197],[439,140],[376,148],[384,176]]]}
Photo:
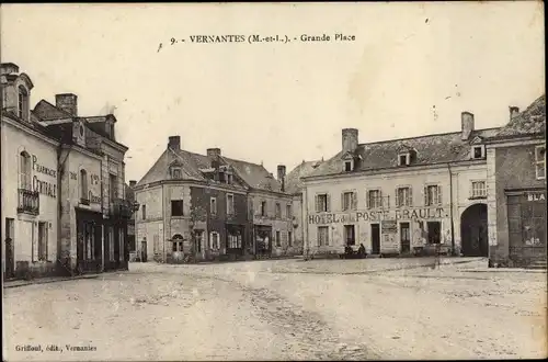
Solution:
{"label": "wall of the right-edge building around its dark BLA shopfront", "polygon": [[538,142],[488,150],[489,161],[493,163],[492,178],[494,178],[491,180],[494,192],[490,203],[494,215],[489,215],[490,226],[495,226],[490,246],[492,262],[499,264],[509,262],[509,215],[505,190],[537,188],[546,190],[546,179],[537,180],[535,172],[535,146],[543,144]]}

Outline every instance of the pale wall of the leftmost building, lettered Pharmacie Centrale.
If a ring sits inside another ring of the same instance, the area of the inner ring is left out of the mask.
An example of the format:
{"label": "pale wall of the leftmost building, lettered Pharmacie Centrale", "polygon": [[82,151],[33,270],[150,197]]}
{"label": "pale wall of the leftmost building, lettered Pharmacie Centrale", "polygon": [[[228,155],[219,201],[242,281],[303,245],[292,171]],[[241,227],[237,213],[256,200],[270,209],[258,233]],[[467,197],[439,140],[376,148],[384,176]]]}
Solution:
{"label": "pale wall of the leftmost building, lettered Pharmacie Centrale", "polygon": [[[2,117],[2,240],[5,239],[5,218],[14,219],[14,259],[16,261],[30,262],[30,267],[47,272],[54,268],[57,259],[57,150],[55,143],[44,140],[43,137],[28,133],[23,126],[14,125],[14,121]],[[39,194],[39,215],[31,216],[18,214],[19,204],[19,168],[21,151],[26,150],[31,155],[33,165],[32,180],[33,189],[37,186],[37,181],[47,182],[52,188],[49,195]],[[33,162],[34,161],[34,162]],[[54,170],[55,176],[39,172],[37,165]],[[47,262],[33,262],[32,237],[36,241],[38,238],[38,222],[47,223]],[[34,235],[31,236],[34,226]],[[3,244],[2,244],[3,245]],[[4,268],[5,250],[2,250],[2,265]]]}

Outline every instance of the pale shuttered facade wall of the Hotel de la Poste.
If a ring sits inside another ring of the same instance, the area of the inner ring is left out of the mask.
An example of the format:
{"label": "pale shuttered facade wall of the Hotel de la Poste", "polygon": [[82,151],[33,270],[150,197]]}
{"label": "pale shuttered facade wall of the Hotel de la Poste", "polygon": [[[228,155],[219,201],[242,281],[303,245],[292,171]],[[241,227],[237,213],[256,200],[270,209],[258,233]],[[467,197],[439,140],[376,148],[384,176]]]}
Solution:
{"label": "pale shuttered facade wall of the Hotel de la Poste", "polygon": [[[343,230],[344,225],[355,225],[356,246],[364,244],[366,251],[372,251],[370,225],[381,224],[381,220],[397,220],[410,223],[411,249],[424,246],[425,234],[421,230],[419,220],[441,222],[442,242],[446,247],[452,246],[452,214],[455,248],[458,252],[460,246],[460,215],[471,204],[486,202],[484,200],[470,200],[471,181],[486,180],[487,168],[484,162],[470,162],[463,166],[453,166],[453,202],[450,200],[449,170],[447,166],[441,168],[427,168],[421,170],[398,170],[397,172],[354,176],[338,179],[326,179],[308,181],[306,190],[306,210],[304,227],[307,228],[308,241],[312,252],[338,253],[344,250]],[[442,203],[439,205],[424,205],[424,186],[426,184],[438,184],[442,190]],[[410,186],[412,190],[412,203],[410,207],[396,207],[396,189]],[[368,190],[379,189],[385,199],[387,207],[383,210],[368,210],[366,207],[366,195]],[[342,211],[342,193],[353,191],[357,193],[356,210],[352,212]],[[316,213],[316,195],[328,193],[330,195],[331,210],[329,213]],[[452,213],[453,204],[453,213]],[[321,219],[322,215],[335,214]],[[343,219],[343,216],[345,219]],[[330,226],[329,246],[319,247],[317,230],[318,226]],[[380,252],[400,252],[400,227],[397,225],[396,233],[381,231]]]}

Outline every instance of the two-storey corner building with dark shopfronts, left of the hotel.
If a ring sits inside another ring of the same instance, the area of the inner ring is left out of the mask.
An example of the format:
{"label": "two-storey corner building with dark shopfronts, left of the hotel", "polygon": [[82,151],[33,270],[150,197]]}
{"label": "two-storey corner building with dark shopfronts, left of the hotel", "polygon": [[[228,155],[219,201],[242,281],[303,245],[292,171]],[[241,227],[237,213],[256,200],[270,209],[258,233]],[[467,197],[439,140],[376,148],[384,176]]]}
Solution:
{"label": "two-storey corner building with dark shopfronts, left of the hotel", "polygon": [[283,182],[263,166],[222,156],[219,148],[193,154],[181,148],[180,136],[169,137],[135,186],[135,197],[141,259],[249,259],[292,250],[292,196],[283,192]]}

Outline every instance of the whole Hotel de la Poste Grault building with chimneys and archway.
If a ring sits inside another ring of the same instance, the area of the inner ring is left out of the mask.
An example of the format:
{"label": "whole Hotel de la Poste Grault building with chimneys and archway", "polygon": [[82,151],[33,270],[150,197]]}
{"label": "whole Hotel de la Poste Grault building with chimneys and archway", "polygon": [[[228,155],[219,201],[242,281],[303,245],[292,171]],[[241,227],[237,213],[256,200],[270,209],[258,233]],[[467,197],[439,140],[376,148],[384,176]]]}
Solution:
{"label": "whole Hotel de la Poste Grault building with chimneys and archway", "polygon": [[484,139],[463,112],[460,132],[358,143],[342,131],[341,151],[304,181],[305,252],[422,254],[436,249],[488,254]]}

